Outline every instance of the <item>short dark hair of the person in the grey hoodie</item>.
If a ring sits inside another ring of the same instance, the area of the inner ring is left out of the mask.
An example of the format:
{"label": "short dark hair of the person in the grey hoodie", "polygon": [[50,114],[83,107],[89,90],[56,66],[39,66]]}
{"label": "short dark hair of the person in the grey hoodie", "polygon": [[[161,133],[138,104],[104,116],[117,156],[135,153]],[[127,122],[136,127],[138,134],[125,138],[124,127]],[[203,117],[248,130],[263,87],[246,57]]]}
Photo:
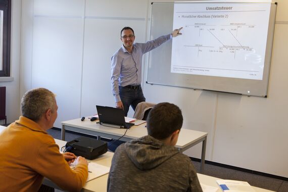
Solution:
{"label": "short dark hair of the person in the grey hoodie", "polygon": [[183,124],[182,112],[178,106],[170,103],[155,105],[147,118],[147,130],[156,139],[165,139]]}

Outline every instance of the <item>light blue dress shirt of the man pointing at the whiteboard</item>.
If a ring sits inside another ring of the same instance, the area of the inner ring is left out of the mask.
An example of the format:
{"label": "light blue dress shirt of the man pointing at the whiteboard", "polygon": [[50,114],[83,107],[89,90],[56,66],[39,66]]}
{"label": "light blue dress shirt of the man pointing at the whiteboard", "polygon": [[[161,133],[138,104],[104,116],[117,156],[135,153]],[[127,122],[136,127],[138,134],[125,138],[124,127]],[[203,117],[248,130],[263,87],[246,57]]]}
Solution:
{"label": "light blue dress shirt of the man pointing at the whiteboard", "polygon": [[172,35],[168,34],[146,43],[134,43],[132,53],[129,53],[122,44],[111,59],[111,85],[115,102],[121,101],[119,85],[124,87],[141,83],[142,56],[171,38]]}

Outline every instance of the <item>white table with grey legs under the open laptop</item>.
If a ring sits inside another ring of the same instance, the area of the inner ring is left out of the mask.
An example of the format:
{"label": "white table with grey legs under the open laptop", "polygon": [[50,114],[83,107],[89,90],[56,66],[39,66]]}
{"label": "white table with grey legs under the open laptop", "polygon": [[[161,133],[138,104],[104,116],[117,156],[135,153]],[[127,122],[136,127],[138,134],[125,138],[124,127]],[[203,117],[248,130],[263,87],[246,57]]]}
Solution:
{"label": "white table with grey legs under the open laptop", "polygon": [[[126,129],[102,126],[96,122],[98,121],[90,121],[88,118],[85,118],[84,121],[81,121],[80,118],[69,121],[63,121],[61,122],[62,123],[61,139],[65,140],[65,130],[113,139],[118,139],[126,131]],[[120,140],[129,141],[131,139],[137,139],[147,135],[148,134],[147,128],[145,126],[146,123],[143,123],[138,126],[132,126],[130,129],[127,130],[125,136],[123,136]],[[204,170],[204,164],[205,164],[207,134],[208,133],[202,131],[195,131],[182,128],[179,133],[178,141],[175,145],[175,147],[178,148],[180,152],[183,152],[202,142],[202,154],[201,154],[201,166],[200,166],[201,173]]]}

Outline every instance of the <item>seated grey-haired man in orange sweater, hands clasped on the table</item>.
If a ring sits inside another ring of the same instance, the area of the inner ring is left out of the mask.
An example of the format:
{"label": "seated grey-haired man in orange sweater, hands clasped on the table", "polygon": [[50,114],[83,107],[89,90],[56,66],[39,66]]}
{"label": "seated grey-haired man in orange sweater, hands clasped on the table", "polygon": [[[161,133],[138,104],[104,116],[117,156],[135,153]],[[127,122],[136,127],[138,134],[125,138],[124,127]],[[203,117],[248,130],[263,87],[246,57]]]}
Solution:
{"label": "seated grey-haired man in orange sweater, hands clasped on the table", "polygon": [[61,154],[46,130],[57,118],[55,95],[45,88],[27,91],[21,101],[22,115],[0,134],[0,191],[37,191],[43,177],[63,190],[79,191],[88,176],[87,161]]}

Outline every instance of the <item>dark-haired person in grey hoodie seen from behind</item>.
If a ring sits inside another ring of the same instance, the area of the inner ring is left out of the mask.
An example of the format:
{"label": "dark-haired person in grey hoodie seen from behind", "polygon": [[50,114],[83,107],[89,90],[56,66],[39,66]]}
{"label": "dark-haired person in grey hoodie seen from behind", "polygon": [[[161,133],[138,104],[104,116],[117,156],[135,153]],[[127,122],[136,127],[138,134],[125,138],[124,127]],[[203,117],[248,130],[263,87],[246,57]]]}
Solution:
{"label": "dark-haired person in grey hoodie seen from behind", "polygon": [[107,191],[202,191],[191,160],[174,147],[182,123],[176,105],[155,105],[147,119],[148,135],[115,151]]}

